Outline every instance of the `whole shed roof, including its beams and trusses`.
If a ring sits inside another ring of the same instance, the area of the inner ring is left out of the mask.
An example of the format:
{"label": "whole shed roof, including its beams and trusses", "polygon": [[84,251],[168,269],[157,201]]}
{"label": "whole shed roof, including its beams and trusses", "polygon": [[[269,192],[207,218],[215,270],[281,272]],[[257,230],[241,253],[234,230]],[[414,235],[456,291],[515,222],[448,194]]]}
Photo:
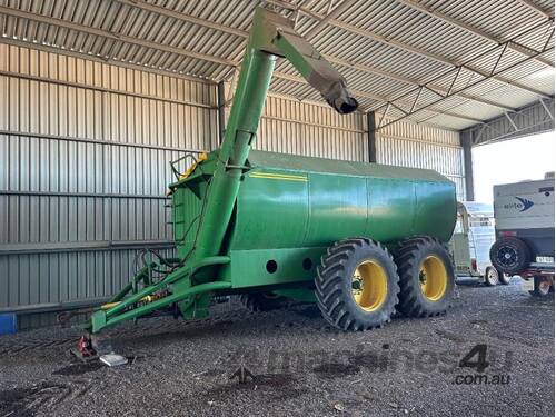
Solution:
{"label": "whole shed roof, including its beams and trusses", "polygon": [[[552,0],[0,0],[0,41],[218,82],[260,3],[295,19],[383,126],[460,130],[554,97]],[[271,91],[320,100],[286,61]]]}

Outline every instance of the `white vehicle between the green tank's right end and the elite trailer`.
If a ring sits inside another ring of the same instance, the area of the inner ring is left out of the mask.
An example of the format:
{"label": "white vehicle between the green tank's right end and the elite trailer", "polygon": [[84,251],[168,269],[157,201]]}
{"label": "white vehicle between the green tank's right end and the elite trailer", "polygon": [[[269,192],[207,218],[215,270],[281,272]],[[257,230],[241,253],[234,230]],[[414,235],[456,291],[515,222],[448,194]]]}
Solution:
{"label": "white vehicle between the green tank's right end and the elite trailer", "polygon": [[449,241],[456,275],[479,278],[487,286],[509,284],[512,277],[490,262],[489,250],[495,240],[493,205],[458,201],[456,228]]}

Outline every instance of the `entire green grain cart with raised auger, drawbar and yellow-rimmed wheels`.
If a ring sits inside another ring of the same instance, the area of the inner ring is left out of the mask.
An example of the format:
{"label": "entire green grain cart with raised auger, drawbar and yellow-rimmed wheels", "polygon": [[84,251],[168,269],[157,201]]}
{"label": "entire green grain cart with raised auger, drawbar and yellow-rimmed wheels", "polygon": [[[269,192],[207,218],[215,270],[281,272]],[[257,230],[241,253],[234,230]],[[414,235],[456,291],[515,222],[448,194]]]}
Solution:
{"label": "entire green grain cart with raised auger, drawbar and yellow-rimmed wheels", "polygon": [[292,21],[258,8],[222,143],[169,186],[177,257],[143,254],[143,267],[92,314],[92,334],[161,310],[205,317],[229,294],[259,309],[269,291],[272,304],[312,298],[345,330],[381,326],[396,306],[417,317],[445,311],[454,183],[431,170],[251,151],[279,57],[337,112],[357,109]]}

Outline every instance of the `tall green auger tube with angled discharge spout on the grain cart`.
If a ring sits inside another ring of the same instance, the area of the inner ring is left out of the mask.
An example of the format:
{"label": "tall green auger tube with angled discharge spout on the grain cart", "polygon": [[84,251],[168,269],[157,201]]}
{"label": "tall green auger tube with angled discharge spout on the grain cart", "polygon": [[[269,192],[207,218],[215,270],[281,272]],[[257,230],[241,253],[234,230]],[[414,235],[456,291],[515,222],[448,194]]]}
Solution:
{"label": "tall green auger tube with angled discharge spout on the grain cart", "polygon": [[192,259],[220,252],[277,57],[288,59],[338,112],[349,113],[357,109],[357,101],[350,97],[345,79],[295,32],[292,22],[258,8]]}

